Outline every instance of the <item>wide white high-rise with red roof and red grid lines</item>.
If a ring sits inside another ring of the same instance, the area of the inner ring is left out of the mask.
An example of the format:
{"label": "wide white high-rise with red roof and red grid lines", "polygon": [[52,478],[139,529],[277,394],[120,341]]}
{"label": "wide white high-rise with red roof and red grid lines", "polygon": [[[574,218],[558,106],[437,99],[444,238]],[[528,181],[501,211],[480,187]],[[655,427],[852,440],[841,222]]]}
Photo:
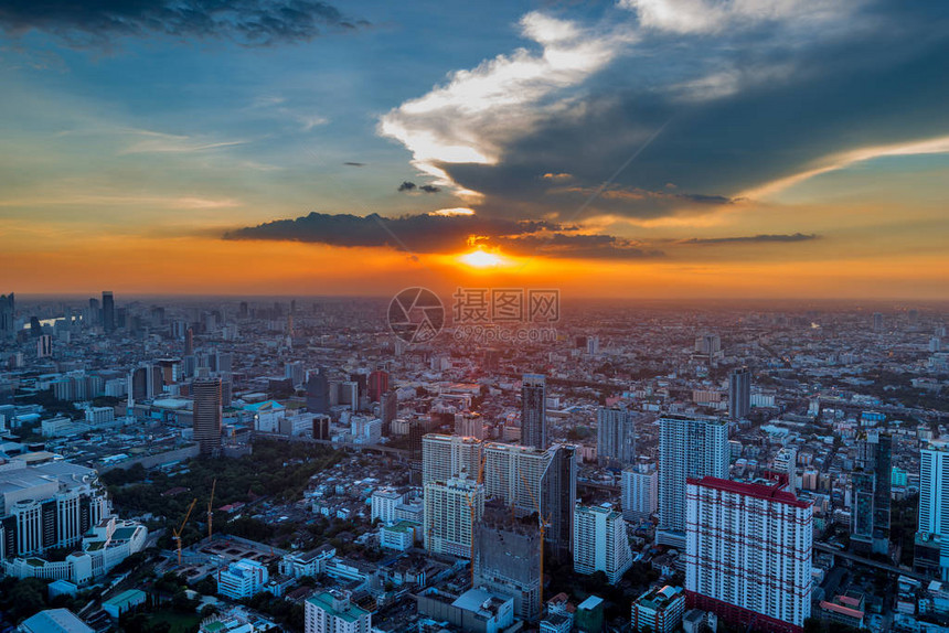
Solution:
{"label": "wide white high-rise with red roof and red grid lines", "polygon": [[813,506],[782,483],[689,479],[689,605],[732,626],[801,633],[811,613]]}

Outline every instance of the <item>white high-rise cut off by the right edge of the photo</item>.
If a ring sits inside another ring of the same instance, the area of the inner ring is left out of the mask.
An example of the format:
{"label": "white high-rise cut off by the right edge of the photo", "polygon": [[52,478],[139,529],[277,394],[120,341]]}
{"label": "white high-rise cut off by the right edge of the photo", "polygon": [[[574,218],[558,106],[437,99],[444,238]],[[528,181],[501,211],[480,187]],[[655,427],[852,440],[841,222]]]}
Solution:
{"label": "white high-rise cut off by the right edge of the photo", "polygon": [[949,437],[931,440],[919,454],[914,567],[949,581]]}

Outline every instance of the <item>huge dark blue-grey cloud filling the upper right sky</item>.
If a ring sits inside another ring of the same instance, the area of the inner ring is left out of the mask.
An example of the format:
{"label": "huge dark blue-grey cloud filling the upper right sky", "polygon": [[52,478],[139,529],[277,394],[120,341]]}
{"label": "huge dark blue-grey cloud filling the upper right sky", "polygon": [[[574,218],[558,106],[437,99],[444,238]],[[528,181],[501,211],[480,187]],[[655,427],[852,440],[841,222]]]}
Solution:
{"label": "huge dark blue-grey cloud filling the upper right sky", "polygon": [[[949,135],[949,3],[867,7],[859,29],[807,46],[769,42],[768,30],[648,36],[637,57],[589,81],[582,105],[510,139],[497,163],[437,167],[484,194],[481,214],[573,218],[636,155],[616,189],[653,194],[607,189],[584,214],[654,218],[707,213],[851,149]],[[660,58],[661,73],[646,63]],[[571,174],[573,194],[547,173]]]}

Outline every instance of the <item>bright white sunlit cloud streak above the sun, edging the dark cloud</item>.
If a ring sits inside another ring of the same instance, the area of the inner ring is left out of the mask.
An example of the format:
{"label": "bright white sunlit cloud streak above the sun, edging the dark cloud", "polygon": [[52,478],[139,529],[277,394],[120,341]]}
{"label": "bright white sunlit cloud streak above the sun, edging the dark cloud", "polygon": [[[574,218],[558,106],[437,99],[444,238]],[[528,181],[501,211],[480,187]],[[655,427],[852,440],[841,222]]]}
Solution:
{"label": "bright white sunlit cloud streak above the sun, edging the dark cloud", "polygon": [[635,39],[626,28],[589,29],[540,12],[521,19],[521,33],[542,50],[519,49],[451,73],[445,85],[381,117],[378,133],[403,143],[436,184],[477,199],[452,182],[446,164],[497,164],[512,139],[569,108],[564,89],[583,84]]}

